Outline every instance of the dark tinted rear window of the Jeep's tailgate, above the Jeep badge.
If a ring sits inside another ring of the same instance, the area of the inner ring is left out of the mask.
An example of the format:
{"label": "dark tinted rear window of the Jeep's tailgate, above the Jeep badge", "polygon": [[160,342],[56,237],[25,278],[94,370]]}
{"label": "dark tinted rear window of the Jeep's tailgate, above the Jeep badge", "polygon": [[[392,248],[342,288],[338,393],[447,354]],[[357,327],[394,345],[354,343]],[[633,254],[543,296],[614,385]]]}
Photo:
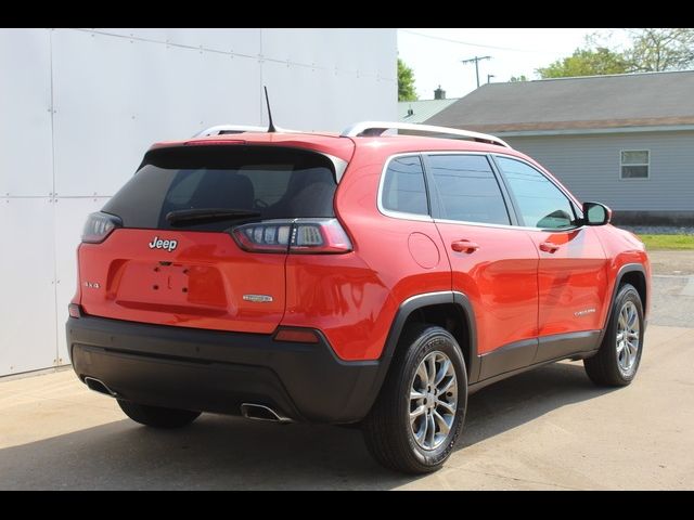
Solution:
{"label": "dark tinted rear window of the Jeep's tailgate, above the Jeep badge", "polygon": [[[166,216],[188,209],[250,210],[264,220],[334,217],[335,188],[332,162],[313,152],[181,146],[147,153],[103,211],[120,217],[126,227],[144,229],[170,229]],[[221,231],[234,223],[191,223],[185,229]]]}

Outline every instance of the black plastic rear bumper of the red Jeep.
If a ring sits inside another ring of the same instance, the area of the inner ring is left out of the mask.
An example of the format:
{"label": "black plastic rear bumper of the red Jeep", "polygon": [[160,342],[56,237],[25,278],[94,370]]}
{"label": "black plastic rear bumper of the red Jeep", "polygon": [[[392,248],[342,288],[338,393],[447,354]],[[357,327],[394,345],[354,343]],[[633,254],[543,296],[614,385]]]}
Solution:
{"label": "black plastic rear bumper of the red Jeep", "polygon": [[73,368],[123,399],[200,412],[240,414],[241,403],[295,420],[355,422],[378,391],[377,361],[338,360],[319,343],[272,336],[149,325],[103,317],[66,324]]}

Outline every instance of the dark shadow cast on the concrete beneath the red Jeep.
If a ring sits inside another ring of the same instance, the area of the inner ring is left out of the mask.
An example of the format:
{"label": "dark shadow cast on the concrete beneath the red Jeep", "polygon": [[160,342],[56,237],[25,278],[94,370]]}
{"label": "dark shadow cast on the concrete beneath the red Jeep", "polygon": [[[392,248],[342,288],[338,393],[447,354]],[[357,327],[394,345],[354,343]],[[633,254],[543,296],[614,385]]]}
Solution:
{"label": "dark shadow cast on the concrete beneath the red Jeep", "polygon": [[[596,398],[581,364],[550,365],[471,396],[459,450]],[[393,489],[357,429],[203,415],[157,431],[119,420],[0,450],[0,489]]]}

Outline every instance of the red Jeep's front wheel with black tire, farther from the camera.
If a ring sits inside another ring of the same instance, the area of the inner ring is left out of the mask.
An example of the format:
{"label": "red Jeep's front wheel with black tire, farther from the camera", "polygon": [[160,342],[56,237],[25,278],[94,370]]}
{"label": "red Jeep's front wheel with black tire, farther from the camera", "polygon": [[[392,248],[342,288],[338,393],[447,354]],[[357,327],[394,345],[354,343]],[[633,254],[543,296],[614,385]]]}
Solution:
{"label": "red Jeep's front wheel with black tire, farther from the camera", "polygon": [[[631,322],[626,327],[628,343],[621,340],[626,321]],[[632,285],[625,284],[619,287],[615,298],[600,350],[592,358],[583,360],[586,373],[595,385],[626,387],[633,380],[643,353],[643,306],[639,291]],[[634,341],[637,339],[638,343]]]}

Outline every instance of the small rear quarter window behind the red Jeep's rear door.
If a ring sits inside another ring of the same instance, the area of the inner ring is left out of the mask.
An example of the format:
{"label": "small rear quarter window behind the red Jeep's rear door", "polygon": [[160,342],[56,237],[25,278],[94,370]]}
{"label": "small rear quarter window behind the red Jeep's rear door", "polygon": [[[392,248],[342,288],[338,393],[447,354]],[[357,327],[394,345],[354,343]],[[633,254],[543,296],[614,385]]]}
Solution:
{"label": "small rear quarter window behind the red Jeep's rear door", "polygon": [[419,155],[395,157],[388,162],[381,205],[401,213],[429,214],[424,169]]}

